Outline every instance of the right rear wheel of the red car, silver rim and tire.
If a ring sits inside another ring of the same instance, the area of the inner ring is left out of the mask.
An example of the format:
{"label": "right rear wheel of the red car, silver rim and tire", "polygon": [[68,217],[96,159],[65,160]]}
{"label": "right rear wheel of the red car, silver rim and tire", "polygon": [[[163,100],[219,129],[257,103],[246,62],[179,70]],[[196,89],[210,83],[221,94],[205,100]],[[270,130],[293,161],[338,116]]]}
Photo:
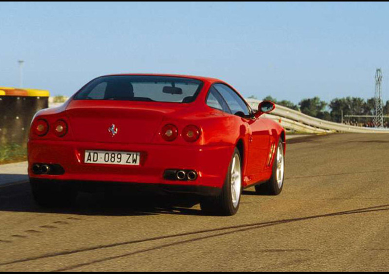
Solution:
{"label": "right rear wheel of the red car, silver rim and tire", "polygon": [[235,148],[221,193],[217,197],[205,198],[200,202],[204,212],[232,216],[238,209],[242,194],[242,161]]}

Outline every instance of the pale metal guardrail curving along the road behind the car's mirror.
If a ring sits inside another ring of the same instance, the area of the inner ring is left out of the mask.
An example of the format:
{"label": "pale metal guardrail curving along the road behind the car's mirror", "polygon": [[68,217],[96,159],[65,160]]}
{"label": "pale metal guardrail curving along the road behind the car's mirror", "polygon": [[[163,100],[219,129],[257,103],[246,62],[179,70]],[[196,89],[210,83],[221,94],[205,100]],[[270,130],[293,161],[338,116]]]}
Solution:
{"label": "pale metal guardrail curving along the road behind the car's mirror", "polygon": [[[253,109],[257,109],[260,100],[247,99],[247,102]],[[276,109],[267,115],[267,118],[278,120],[286,129],[294,129],[300,132],[320,133],[320,132],[352,132],[352,133],[387,133],[389,129],[367,128],[339,124],[335,122],[320,120],[303,114],[299,111],[276,105]]]}

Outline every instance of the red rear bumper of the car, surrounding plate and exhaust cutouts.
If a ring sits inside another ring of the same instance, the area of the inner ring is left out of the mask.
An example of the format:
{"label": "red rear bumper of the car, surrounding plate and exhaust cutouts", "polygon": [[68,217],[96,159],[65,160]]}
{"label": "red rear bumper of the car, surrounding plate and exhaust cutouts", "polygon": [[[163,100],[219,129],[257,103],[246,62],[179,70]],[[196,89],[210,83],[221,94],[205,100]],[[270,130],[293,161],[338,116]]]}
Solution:
{"label": "red rear bumper of the car, surrounding plate and exhaust cutouts", "polygon": [[[85,150],[140,152],[140,166],[85,164]],[[222,188],[233,146],[177,146],[72,141],[30,140],[28,173],[32,179],[82,182],[139,183],[150,185]],[[37,175],[35,163],[59,164],[61,175]],[[171,181],[163,178],[165,170],[195,170],[195,181]],[[188,189],[188,188],[186,188]],[[187,192],[187,191],[186,191]],[[197,192],[197,191],[195,191]],[[201,191],[200,191],[201,192]]]}

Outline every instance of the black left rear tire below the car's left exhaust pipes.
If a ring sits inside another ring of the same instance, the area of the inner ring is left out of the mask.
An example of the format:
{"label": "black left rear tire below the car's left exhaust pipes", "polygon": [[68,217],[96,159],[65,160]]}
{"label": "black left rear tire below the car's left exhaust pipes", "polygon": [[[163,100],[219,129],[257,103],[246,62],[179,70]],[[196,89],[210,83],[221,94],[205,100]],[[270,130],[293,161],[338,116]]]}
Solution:
{"label": "black left rear tire below the car's left exhaust pipes", "polygon": [[77,198],[77,190],[71,185],[30,180],[35,202],[43,207],[71,206]]}

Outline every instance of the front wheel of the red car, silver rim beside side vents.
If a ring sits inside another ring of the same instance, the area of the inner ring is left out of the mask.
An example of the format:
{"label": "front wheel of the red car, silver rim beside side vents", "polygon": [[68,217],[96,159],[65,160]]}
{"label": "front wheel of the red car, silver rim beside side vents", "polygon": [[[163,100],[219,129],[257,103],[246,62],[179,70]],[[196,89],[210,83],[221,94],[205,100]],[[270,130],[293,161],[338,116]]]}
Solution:
{"label": "front wheel of the red car, silver rim beside side vents", "polygon": [[255,186],[255,191],[259,194],[278,195],[283,190],[283,180],[285,171],[285,158],[283,154],[283,144],[280,141],[277,146],[273,160],[273,172],[270,179],[261,185]]}

